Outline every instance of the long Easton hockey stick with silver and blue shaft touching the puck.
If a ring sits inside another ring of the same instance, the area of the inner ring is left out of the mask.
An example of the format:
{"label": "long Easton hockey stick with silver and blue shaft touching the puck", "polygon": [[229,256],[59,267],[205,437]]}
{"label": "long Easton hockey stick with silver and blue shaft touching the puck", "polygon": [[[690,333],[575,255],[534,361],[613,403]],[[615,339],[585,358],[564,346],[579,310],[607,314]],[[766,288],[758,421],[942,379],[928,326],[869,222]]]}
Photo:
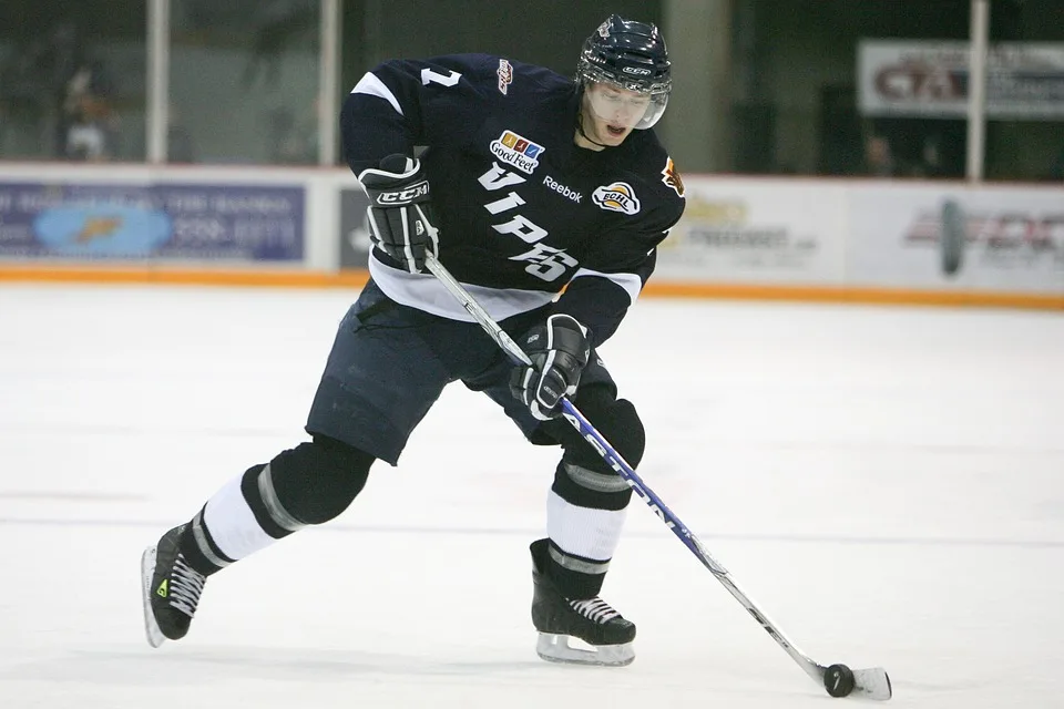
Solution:
{"label": "long Easton hockey stick with silver and blue shaft touching the puck", "polygon": [[[469,291],[451,276],[450,271],[448,271],[432,254],[426,256],[424,265],[515,364],[531,363],[531,360],[521,347],[499,327],[498,322],[492,320],[491,316],[488,315],[480,304],[473,299]],[[877,667],[872,669],[851,670],[846,665],[831,665],[826,667],[814,661],[809,656],[795,647],[795,644],[791,643],[776,624],[750,600],[750,597],[739,588],[739,585],[732,577],[732,574],[728,573],[728,569],[709,554],[702,542],[698,541],[698,537],[679,521],[679,517],[661,501],[653,490],[646,486],[646,483],[636,474],[635,470],[625,462],[621,454],[610,445],[569,399],[562,399],[562,415],[580,432],[584,440],[598,452],[603,460],[624,479],[628,486],[651,507],[654,514],[665,523],[665,526],[679,537],[679,541],[690,549],[692,554],[698,557],[698,561],[709,569],[716,579],[728,589],[728,593],[746,608],[747,613],[754,616],[754,619],[765,628],[771,638],[787,651],[791,659],[795,660],[814,681],[822,686],[832,697],[858,696],[867,699],[890,699],[890,678],[884,669]]]}

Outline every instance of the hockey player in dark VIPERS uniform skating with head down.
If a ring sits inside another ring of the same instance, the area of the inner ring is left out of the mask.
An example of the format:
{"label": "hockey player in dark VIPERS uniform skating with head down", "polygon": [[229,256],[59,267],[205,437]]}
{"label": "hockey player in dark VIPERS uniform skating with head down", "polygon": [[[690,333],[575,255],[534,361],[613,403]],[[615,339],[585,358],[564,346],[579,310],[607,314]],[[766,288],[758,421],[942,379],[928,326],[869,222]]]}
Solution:
{"label": "hockey player in dark VIPERS uniform skating with head down", "polygon": [[[649,130],[671,85],[657,28],[617,16],[586,40],[574,80],[483,54],[387,61],[362,76],[340,120],[371,202],[370,281],[337,332],[310,405],[311,440],[233,479],[144,552],[153,646],[184,637],[211,574],[344,512],[374,461],[396,465],[443,387],[460,380],[531,443],[562,449],[549,536],[531,544],[538,653],[632,661],[635,626],[598,596],[632,491],[559,404],[570,397],[638,464],[643,425],[596,350],[684,209],[679,175]],[[513,367],[424,273],[428,253],[531,367]],[[593,649],[569,647],[570,637]]]}

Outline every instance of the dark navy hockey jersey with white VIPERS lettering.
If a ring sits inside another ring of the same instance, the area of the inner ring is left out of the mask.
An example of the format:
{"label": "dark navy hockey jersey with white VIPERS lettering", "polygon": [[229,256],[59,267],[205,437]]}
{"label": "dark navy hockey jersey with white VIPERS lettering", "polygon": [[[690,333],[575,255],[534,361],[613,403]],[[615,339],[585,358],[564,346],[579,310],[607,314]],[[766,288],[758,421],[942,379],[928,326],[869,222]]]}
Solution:
{"label": "dark navy hockey jersey with white VIPERS lettering", "polygon": [[[497,320],[551,302],[602,343],[654,270],[684,210],[683,182],[654,132],[577,147],[580,96],[555,72],[485,54],[388,61],[345,101],[356,174],[392,153],[420,155],[439,259]],[[430,274],[374,249],[370,274],[393,300],[469,315]]]}

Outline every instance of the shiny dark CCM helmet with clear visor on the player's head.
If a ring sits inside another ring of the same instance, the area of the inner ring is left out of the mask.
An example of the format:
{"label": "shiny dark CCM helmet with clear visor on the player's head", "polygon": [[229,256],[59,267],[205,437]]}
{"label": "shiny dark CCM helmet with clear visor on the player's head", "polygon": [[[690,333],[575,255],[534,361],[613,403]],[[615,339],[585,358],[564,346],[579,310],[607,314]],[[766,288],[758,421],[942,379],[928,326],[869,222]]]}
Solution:
{"label": "shiny dark CCM helmet with clear visor on the player's head", "polygon": [[651,104],[637,129],[648,129],[665,112],[673,88],[665,39],[654,24],[611,14],[584,41],[576,63],[576,83],[612,83],[647,94]]}

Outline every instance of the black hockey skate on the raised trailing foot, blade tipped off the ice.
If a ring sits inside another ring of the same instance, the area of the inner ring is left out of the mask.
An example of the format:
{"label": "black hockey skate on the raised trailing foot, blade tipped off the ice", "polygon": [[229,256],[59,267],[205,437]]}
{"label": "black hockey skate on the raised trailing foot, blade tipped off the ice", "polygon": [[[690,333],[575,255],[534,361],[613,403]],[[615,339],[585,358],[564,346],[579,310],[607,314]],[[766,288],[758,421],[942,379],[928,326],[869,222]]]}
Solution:
{"label": "black hockey skate on the raised trailing foot, blade tipped off the ice", "polygon": [[144,630],[152,647],[185,637],[207,582],[185,563],[177,548],[184,530],[185,525],[174,527],[141,556]]}

